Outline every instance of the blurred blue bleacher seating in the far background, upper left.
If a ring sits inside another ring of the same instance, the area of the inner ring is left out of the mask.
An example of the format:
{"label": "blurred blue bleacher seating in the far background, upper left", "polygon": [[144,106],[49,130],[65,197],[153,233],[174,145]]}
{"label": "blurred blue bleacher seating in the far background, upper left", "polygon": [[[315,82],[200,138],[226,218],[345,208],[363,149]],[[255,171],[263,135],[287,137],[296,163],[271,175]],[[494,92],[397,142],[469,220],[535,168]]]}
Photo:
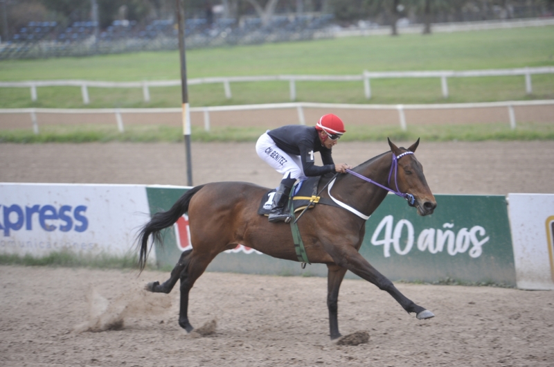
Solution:
{"label": "blurred blue bleacher seating in the far background, upper left", "polygon": [[[227,18],[215,18],[211,22],[194,18],[186,19],[185,35],[187,46],[193,48],[283,42],[313,37],[316,30],[329,25],[330,19],[332,15],[276,15],[269,23],[263,24],[262,19],[256,17],[247,17],[240,22]],[[137,24],[136,21],[116,20],[100,30],[98,38],[94,37],[96,28],[94,21],[75,21],[66,28],[55,21],[31,21],[0,47],[0,60],[170,49],[178,46],[178,27],[172,19],[156,19],[146,25]],[[132,42],[122,46],[118,42],[122,40]],[[47,46],[44,45],[45,41],[48,41]],[[42,46],[38,50],[35,45],[41,42]]]}

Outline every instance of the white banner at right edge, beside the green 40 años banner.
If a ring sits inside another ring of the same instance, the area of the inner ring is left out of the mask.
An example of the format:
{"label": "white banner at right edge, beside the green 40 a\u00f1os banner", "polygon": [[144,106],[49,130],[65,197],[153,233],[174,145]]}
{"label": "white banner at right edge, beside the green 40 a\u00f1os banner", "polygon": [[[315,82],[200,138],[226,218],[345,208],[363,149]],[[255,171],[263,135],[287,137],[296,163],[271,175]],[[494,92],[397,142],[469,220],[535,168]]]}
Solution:
{"label": "white banner at right edge, beside the green 40 a\u00f1os banner", "polygon": [[508,194],[517,287],[554,289],[554,194]]}

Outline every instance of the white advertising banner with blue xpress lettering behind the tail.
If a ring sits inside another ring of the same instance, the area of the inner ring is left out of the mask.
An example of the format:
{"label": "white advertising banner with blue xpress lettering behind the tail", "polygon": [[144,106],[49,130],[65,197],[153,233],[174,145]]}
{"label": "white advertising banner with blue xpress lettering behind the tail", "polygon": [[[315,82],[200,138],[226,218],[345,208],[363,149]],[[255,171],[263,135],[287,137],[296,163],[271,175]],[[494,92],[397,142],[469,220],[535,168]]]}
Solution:
{"label": "white advertising banner with blue xpress lettering behind the tail", "polygon": [[122,256],[149,219],[145,186],[0,183],[0,253]]}

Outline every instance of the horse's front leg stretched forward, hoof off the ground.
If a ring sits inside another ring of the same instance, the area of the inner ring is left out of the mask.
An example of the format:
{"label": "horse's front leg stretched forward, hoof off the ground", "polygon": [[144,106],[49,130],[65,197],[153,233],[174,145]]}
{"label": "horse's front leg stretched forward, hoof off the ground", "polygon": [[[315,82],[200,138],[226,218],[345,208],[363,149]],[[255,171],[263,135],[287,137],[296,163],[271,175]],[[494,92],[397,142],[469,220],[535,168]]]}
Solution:
{"label": "horse's front leg stretched forward, hoof off the ground", "polygon": [[388,292],[388,294],[393,296],[393,298],[400,303],[406,312],[415,312],[418,319],[431,319],[431,317],[435,316],[433,312],[425,310],[424,307],[416,305],[413,301],[404,296],[404,294],[396,289],[391,280],[388,280],[386,276],[379,273],[377,269],[370,265],[370,263],[364,259],[364,257],[361,256],[354,247],[349,246],[348,244],[337,246],[330,251],[330,255],[332,256],[334,262],[340,267],[345,267],[360,278],[363,278],[368,282],[377,285],[379,289]]}

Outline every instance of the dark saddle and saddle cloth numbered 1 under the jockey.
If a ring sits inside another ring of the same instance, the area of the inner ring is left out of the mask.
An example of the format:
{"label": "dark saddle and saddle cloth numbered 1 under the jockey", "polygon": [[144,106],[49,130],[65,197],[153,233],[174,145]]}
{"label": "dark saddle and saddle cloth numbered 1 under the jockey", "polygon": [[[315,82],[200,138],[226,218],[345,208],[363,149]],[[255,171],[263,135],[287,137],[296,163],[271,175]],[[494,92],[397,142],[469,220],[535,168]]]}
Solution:
{"label": "dark saddle and saddle cloth numbered 1 under the jockey", "polygon": [[[324,204],[330,206],[338,206],[331,199],[326,197],[319,197],[317,195],[317,188],[319,183],[327,183],[332,177],[332,174],[328,176],[315,176],[308,177],[304,181],[299,181],[294,184],[289,199],[292,202],[292,213],[303,211],[307,206],[308,209],[314,208],[316,204]],[[258,208],[259,215],[269,215],[271,211],[271,204],[273,202],[273,196],[275,195],[276,189],[269,190],[262,197],[260,201],[260,206]]]}

